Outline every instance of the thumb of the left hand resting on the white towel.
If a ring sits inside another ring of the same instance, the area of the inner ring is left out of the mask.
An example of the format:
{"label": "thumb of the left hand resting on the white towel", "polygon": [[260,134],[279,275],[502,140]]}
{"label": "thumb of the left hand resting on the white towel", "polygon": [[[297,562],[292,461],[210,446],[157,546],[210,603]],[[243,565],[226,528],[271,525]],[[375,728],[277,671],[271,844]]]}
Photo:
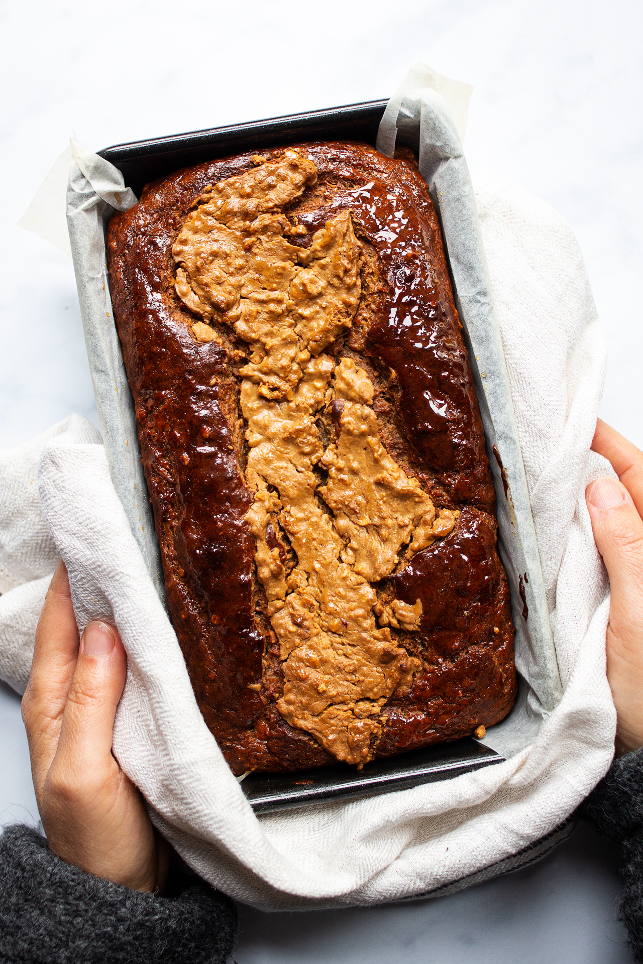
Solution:
{"label": "thumb of the left hand resting on the white towel", "polygon": [[117,630],[108,623],[90,623],[80,643],[54,761],[56,769],[69,776],[83,775],[88,790],[93,777],[98,782],[106,770],[118,772],[112,734],[126,672],[127,657]]}

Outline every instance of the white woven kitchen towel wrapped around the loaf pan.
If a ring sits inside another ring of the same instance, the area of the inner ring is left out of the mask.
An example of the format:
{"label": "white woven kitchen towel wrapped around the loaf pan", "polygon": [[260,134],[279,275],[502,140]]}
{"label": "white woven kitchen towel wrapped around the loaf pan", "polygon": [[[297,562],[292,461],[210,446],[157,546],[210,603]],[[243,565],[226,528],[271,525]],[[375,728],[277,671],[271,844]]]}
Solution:
{"label": "white woven kitchen towel wrapped around the loaf pan", "polygon": [[[499,177],[474,183],[564,686],[533,742],[505,763],[414,790],[255,817],[202,721],[95,430],[72,416],[0,461],[1,674],[24,685],[42,576],[57,549],[81,629],[111,616],[127,650],[114,737],[121,766],[187,862],[257,907],[365,904],[436,890],[548,834],[611,760],[609,593],[584,502],[586,485],[610,470],[589,450],[603,332],[576,240],[558,215]],[[32,483],[40,450],[42,511]]]}

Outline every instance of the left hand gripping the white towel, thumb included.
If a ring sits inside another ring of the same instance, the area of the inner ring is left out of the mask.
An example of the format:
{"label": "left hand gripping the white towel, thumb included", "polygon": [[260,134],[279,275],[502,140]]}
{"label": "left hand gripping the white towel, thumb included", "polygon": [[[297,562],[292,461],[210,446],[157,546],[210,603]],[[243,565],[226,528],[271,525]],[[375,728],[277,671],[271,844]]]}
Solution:
{"label": "left hand gripping the white towel, thumb included", "polygon": [[169,845],[112,755],[127,657],[94,622],[78,641],[67,569],[51,580],[22,698],[38,809],[49,848],[68,864],[137,891],[165,886]]}

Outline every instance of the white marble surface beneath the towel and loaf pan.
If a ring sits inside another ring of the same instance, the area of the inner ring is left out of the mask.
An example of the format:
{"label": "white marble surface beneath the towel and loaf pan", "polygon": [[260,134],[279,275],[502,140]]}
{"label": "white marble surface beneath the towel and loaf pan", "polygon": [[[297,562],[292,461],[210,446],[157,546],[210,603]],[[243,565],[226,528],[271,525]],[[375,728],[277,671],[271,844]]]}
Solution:
{"label": "white marble surface beneath the towel and loaf pan", "polygon": [[[603,417],[643,445],[643,8],[635,0],[94,0],[3,4],[0,447],[96,421],[68,257],[15,222],[74,130],[91,149],[385,97],[421,59],[471,84],[471,168],[576,232],[609,344]],[[37,819],[18,701],[0,687],[0,822]],[[615,852],[589,828],[461,895],[336,913],[242,912],[239,964],[630,961]],[[520,949],[520,951],[518,950]]]}

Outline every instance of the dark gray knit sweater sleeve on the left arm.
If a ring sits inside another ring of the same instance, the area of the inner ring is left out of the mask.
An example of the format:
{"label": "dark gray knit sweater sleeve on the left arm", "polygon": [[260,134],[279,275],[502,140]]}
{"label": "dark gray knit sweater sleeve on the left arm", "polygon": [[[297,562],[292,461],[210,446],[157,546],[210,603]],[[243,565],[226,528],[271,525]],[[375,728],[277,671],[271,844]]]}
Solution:
{"label": "dark gray knit sweater sleeve on the left arm", "polygon": [[66,864],[24,826],[0,837],[0,964],[224,964],[236,915],[228,897],[174,867],[169,896]]}

